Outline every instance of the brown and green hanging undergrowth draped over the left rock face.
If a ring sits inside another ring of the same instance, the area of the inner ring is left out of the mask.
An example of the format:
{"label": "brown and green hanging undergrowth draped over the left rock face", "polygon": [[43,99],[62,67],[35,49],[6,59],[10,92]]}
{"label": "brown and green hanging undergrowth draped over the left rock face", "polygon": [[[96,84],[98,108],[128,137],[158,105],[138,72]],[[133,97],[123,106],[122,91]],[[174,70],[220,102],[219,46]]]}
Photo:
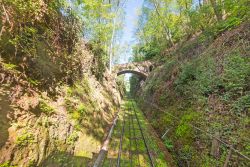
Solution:
{"label": "brown and green hanging undergrowth draped over the left rock face", "polygon": [[14,64],[8,68],[39,80],[32,83],[45,89],[79,74],[73,67],[79,58],[68,55],[75,52],[82,23],[63,2],[6,0],[1,6],[1,57]]}

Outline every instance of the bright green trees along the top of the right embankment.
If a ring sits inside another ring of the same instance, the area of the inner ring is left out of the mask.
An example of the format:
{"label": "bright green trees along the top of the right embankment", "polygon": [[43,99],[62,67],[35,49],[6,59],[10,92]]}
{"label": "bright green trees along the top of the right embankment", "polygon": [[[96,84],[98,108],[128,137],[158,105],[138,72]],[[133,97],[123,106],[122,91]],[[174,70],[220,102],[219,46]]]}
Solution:
{"label": "bright green trees along the top of the right embankment", "polygon": [[144,0],[134,48],[153,58],[195,34],[215,35],[238,25],[249,18],[248,8],[247,0]]}

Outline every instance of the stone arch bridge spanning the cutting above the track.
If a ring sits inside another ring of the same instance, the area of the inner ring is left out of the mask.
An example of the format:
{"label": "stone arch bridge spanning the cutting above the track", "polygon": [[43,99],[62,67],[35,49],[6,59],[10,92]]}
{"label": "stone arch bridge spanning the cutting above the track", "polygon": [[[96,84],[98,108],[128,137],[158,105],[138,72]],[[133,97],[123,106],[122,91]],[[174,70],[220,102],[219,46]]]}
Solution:
{"label": "stone arch bridge spanning the cutting above the track", "polygon": [[117,76],[132,73],[138,75],[142,80],[146,80],[148,74],[153,70],[154,64],[151,61],[131,62],[126,64],[117,64],[113,68],[113,73]]}

